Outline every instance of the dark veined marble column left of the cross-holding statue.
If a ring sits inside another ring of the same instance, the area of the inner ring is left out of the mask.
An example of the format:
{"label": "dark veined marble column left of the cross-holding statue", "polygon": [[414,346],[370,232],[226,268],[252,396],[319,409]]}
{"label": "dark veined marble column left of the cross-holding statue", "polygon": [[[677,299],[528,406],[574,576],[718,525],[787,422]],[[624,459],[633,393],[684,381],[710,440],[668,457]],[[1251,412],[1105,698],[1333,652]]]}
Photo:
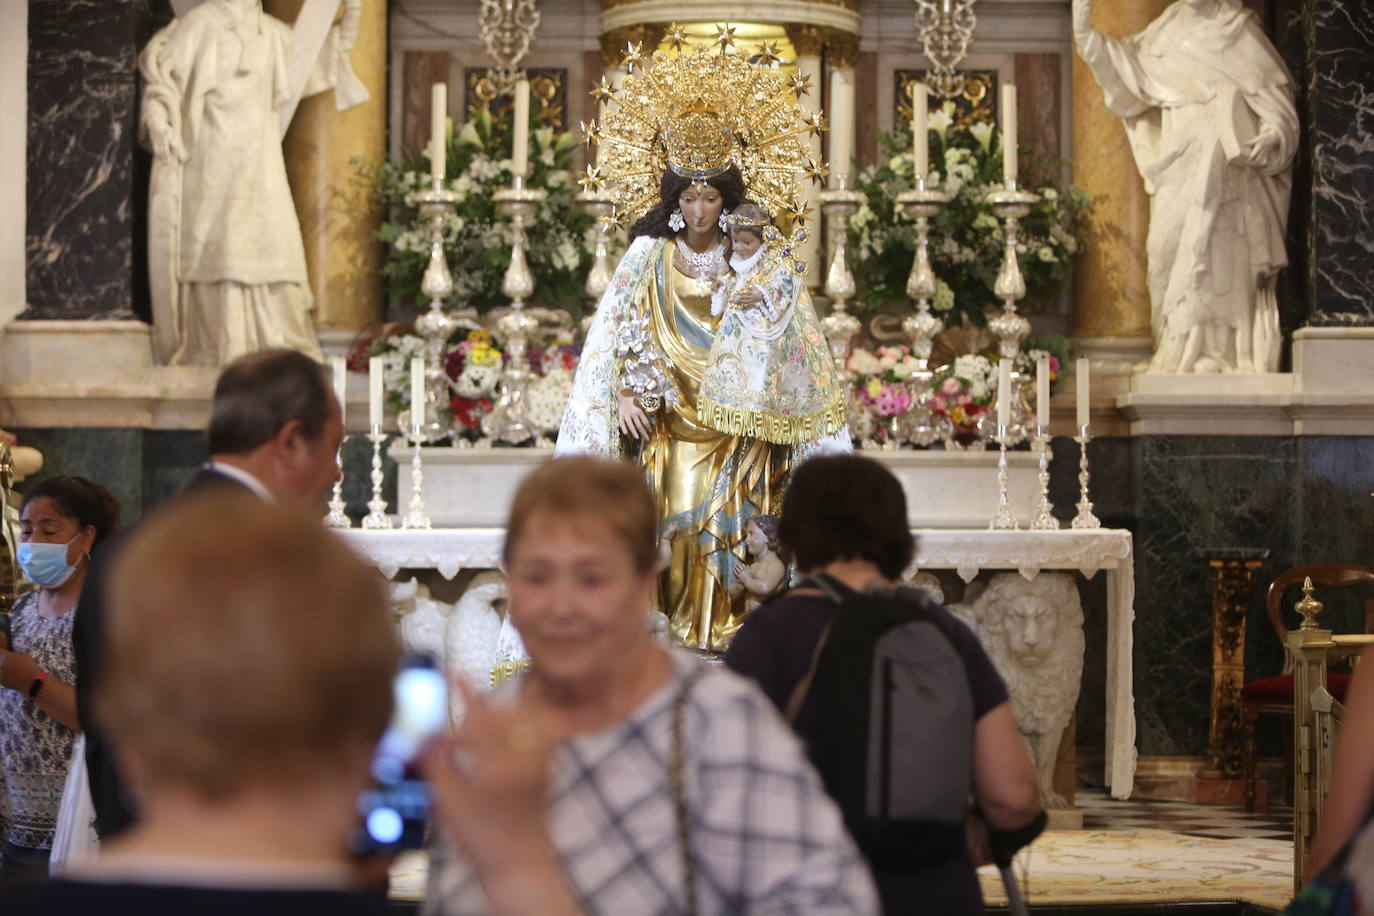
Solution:
{"label": "dark veined marble column left of the cross-holding statue", "polygon": [[27,308],[19,319],[148,313],[137,52],[168,21],[151,5],[29,1]]}

